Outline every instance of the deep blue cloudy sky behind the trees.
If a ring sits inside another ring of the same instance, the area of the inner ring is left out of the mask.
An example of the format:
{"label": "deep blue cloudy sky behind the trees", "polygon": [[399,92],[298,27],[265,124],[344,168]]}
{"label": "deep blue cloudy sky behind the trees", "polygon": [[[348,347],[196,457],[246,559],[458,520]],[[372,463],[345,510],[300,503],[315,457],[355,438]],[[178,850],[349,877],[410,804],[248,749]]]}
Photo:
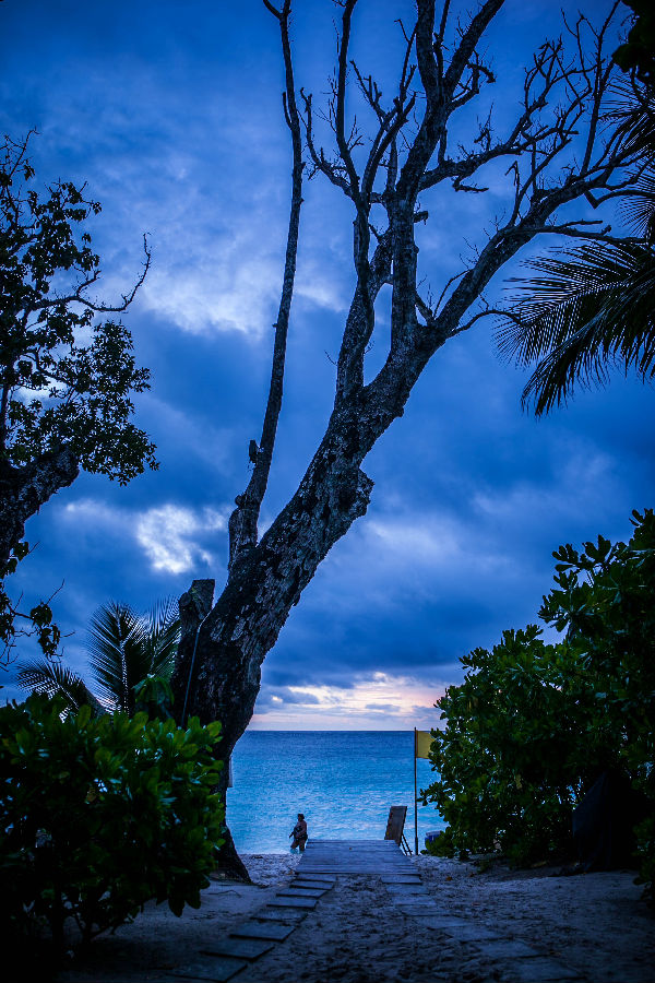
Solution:
{"label": "deep blue cloudy sky behind the trees", "polygon": [[[297,82],[319,103],[336,9],[296,7]],[[398,15],[409,23],[412,4],[360,0],[354,54],[382,82],[397,61]],[[519,0],[489,31],[498,82],[488,98],[501,130],[522,64],[559,31],[556,7]],[[153,249],[124,322],[152,370],[138,418],[160,470],[127,488],[83,475],[59,493],[29,521],[26,536],[39,545],[16,578],[25,605],[63,582],[52,603],[66,658],[83,671],[98,604],[145,609],[193,578],[218,587],[225,578],[226,518],[261,429],[285,248],[278,38],[259,0],[4,0],[0,66],[0,129],[20,138],[37,128],[38,180],[86,181],[103,203],[93,222],[103,298],[138,274],[144,232]],[[486,196],[437,203],[419,238],[433,294],[484,244],[503,204],[503,169],[490,171]],[[323,431],[353,286],[346,202],[318,179],[305,197],[264,521],[295,490]],[[370,371],[383,357],[386,301]],[[488,320],[437,354],[366,461],[376,483],[367,517],[333,548],[266,659],[253,726],[434,725],[432,703],[461,678],[458,658],[535,620],[552,549],[599,532],[630,535],[631,510],[653,505],[653,388],[615,374],[607,389],[535,421],[520,407],[524,382],[499,358]],[[17,695],[13,675],[0,678],[3,697]]]}

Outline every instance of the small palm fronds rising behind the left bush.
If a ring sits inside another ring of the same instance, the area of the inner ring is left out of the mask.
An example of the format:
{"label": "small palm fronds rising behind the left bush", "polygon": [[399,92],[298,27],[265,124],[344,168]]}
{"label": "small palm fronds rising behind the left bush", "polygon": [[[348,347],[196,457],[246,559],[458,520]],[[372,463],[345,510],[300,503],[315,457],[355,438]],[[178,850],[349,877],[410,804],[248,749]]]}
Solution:
{"label": "small palm fronds rising behind the left bush", "polygon": [[128,604],[110,602],[96,611],[90,625],[86,649],[95,680],[93,690],[53,659],[23,663],[17,682],[23,689],[63,697],[72,711],[88,703],[96,713],[122,711],[133,715],[140,685],[153,678],[170,678],[179,633],[179,617],[171,600],[155,605],[145,616],[135,614]]}

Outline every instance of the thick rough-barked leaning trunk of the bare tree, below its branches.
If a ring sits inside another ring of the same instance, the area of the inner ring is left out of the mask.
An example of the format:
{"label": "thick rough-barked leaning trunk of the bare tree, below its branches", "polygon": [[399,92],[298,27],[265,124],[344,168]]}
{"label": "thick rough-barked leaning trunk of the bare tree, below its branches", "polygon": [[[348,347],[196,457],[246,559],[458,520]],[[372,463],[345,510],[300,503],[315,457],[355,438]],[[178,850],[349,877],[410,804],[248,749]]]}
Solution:
{"label": "thick rough-barked leaning trunk of the bare tree, below its branches", "polygon": [[[329,428],[298,492],[260,543],[233,565],[214,607],[207,581],[194,581],[180,600],[176,718],[222,722],[223,792],[229,758],[254,711],[266,653],[321,560],[368,507],[372,482],[348,460],[350,452],[348,435]],[[228,836],[219,866],[234,873],[236,862]]]}

